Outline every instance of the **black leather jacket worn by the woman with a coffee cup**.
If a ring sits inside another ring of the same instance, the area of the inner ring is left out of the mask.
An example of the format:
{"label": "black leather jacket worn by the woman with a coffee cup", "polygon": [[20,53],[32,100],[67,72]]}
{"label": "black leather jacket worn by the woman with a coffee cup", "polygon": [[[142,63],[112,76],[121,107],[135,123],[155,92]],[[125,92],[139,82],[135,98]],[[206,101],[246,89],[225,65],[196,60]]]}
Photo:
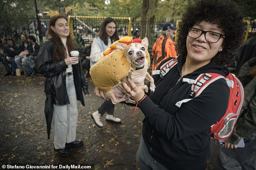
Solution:
{"label": "black leather jacket worn by the woman with a coffee cup", "polygon": [[[45,77],[45,93],[53,96],[53,103],[56,105],[69,104],[66,89],[66,68],[64,60],[53,62],[52,52],[54,48],[53,41],[49,40],[43,43],[36,58],[36,69]],[[84,78],[84,71],[81,62],[72,65],[73,78],[76,87],[76,97],[84,105],[82,89],[85,94],[88,93],[88,83]]]}

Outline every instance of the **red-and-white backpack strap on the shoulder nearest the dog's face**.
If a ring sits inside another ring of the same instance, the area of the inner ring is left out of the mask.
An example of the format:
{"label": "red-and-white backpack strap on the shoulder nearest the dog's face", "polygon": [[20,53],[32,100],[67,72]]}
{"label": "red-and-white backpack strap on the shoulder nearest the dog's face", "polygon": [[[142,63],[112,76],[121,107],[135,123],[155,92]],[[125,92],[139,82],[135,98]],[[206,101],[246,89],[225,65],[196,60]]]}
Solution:
{"label": "red-and-white backpack strap on the shoulder nearest the dog's face", "polygon": [[163,78],[176,64],[178,63],[178,57],[174,57],[162,64],[160,70],[153,70],[152,75],[160,74]]}

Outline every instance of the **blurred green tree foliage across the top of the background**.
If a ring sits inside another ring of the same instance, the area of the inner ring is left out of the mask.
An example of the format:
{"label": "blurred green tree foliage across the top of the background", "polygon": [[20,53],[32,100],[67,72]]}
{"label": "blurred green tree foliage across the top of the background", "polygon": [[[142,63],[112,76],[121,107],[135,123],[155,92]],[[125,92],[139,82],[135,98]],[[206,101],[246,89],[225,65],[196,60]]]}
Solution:
{"label": "blurred green tree foliage across the top of the background", "polygon": [[[51,11],[57,14],[61,7],[67,13],[70,8],[74,15],[81,16],[124,16],[140,22],[143,19],[171,21],[176,24],[187,6],[196,0],[146,0],[149,8],[142,13],[143,0],[36,0],[40,12]],[[244,17],[256,18],[256,0],[233,0],[239,6]],[[0,33],[2,28],[22,26],[29,18],[35,18],[36,9],[34,0],[0,0]],[[144,21],[144,20],[143,20]]]}

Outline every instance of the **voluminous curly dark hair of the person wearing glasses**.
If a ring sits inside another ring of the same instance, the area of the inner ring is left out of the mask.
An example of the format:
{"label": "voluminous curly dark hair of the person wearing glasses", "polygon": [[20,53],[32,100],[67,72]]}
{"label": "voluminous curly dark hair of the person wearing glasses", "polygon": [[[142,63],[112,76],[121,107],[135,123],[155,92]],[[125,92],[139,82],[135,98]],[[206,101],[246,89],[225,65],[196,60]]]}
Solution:
{"label": "voluminous curly dark hair of the person wearing glasses", "polygon": [[187,56],[188,27],[193,27],[201,21],[217,24],[224,31],[223,51],[218,52],[211,62],[228,67],[235,53],[243,43],[245,25],[237,5],[230,0],[198,0],[188,7],[183,14],[178,30],[177,51],[183,57]]}

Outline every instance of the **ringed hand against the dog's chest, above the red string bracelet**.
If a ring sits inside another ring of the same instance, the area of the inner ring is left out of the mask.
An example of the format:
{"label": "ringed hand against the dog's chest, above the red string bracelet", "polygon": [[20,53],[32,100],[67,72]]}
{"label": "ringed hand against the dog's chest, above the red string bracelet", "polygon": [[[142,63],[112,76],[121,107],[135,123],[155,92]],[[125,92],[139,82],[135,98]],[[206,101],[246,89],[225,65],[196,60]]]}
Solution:
{"label": "ringed hand against the dog's chest, above the red string bracelet", "polygon": [[129,78],[128,78],[128,82],[122,81],[122,85],[126,90],[125,92],[126,96],[128,96],[129,98],[131,98],[136,102],[141,100],[145,95],[144,90],[138,88],[138,86],[136,86],[136,84]]}

